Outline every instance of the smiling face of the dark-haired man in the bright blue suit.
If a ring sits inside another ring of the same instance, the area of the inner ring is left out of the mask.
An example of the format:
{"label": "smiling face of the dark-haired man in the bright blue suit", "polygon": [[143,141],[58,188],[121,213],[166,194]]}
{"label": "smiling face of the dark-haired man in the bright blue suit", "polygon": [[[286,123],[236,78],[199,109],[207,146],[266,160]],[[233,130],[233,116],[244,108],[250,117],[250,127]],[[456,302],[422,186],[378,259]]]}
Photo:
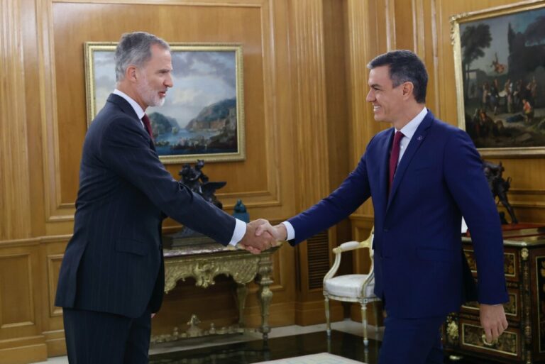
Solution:
{"label": "smiling face of the dark-haired man in the bright blue suit", "polygon": [[395,123],[403,116],[404,84],[394,87],[390,66],[375,67],[369,72],[369,93],[366,101],[373,104],[375,121]]}

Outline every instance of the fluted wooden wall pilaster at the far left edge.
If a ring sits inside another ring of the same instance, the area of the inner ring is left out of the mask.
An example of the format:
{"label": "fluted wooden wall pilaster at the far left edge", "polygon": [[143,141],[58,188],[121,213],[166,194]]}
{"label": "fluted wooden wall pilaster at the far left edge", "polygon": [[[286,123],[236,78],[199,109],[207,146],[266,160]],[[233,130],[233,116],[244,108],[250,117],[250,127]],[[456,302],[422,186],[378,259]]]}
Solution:
{"label": "fluted wooden wall pilaster at the far left edge", "polygon": [[0,241],[31,235],[21,4],[0,1]]}

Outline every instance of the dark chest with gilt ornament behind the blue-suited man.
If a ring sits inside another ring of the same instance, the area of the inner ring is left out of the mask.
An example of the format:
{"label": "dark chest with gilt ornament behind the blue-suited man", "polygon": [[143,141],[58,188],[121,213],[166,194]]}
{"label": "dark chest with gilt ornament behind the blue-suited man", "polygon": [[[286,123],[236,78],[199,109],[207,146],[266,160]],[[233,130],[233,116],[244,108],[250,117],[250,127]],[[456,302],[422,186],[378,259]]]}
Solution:
{"label": "dark chest with gilt ornament behind the blue-suited man", "polygon": [[[517,234],[520,237],[509,237]],[[478,279],[470,238],[463,238],[463,250]],[[451,358],[472,356],[504,363],[545,363],[544,228],[504,232],[504,270],[509,294],[504,308],[509,328],[497,342],[485,343],[478,304],[462,306],[459,313],[448,315],[444,325],[444,348],[453,354]]]}

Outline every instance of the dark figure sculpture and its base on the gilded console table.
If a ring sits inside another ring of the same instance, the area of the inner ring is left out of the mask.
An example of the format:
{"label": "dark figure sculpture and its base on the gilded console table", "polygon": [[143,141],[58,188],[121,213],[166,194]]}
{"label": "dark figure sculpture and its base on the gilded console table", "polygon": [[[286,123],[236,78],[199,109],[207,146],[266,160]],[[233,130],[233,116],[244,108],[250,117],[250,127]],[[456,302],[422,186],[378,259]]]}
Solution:
{"label": "dark figure sculpture and its base on the gilded console table", "polygon": [[[222,209],[223,205],[219,199],[217,199],[214,193],[216,192],[216,189],[224,187],[227,182],[210,182],[208,176],[202,172],[203,167],[204,160],[197,160],[194,167],[192,167],[189,163],[185,163],[182,165],[182,170],[180,170],[178,173],[178,175],[182,176],[180,182],[189,187],[189,189],[191,189],[194,193],[201,195],[202,198],[214,206]],[[187,226],[184,226],[182,230],[175,234],[163,237],[163,246],[165,246],[165,248],[175,248],[203,243],[209,244],[214,243],[214,241],[211,238],[202,235],[202,233],[193,231]]]}

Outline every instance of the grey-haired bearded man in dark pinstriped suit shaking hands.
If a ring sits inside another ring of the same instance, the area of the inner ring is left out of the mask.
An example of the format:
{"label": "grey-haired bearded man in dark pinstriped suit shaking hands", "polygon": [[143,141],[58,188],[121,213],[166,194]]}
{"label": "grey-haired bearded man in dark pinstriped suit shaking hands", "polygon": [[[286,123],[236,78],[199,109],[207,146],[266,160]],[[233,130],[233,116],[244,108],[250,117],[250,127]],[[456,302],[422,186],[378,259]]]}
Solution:
{"label": "grey-haired bearded man in dark pinstriped suit shaking hands", "polygon": [[177,182],[161,164],[145,115],[172,87],[164,40],[124,34],[117,88],[89,126],[79,172],[74,235],[60,269],[68,359],[77,364],[148,363],[151,317],[163,300],[161,224],[166,216],[224,244],[258,253],[271,236]]}

